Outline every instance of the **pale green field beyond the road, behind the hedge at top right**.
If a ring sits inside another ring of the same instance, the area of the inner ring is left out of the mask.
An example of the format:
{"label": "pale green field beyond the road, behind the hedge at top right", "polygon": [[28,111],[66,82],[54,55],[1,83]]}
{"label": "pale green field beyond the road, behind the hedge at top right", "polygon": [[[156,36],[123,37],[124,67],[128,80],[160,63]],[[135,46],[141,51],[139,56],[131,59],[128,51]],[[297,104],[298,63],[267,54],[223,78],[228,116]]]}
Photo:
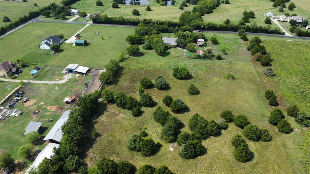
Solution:
{"label": "pale green field beyond the road, behind the hedge at top right", "polygon": [[[289,11],[287,8],[284,8],[284,12],[279,12],[279,7],[272,7],[272,3],[269,0],[232,0],[230,4],[221,4],[219,7],[213,10],[213,13],[206,14],[202,16],[205,22],[214,22],[214,23],[223,23],[226,19],[229,19],[232,23],[238,23],[242,18],[243,11],[253,11],[255,13],[255,19],[250,19],[250,22],[247,25],[256,23],[258,26],[267,26],[268,24],[264,23],[266,16],[263,16],[266,12],[272,12],[275,15],[283,15],[284,13],[296,13],[303,18],[310,18],[310,13],[300,6],[296,6],[294,11]],[[286,3],[286,7],[291,2]],[[276,24],[272,23],[269,26],[277,27]]]}

